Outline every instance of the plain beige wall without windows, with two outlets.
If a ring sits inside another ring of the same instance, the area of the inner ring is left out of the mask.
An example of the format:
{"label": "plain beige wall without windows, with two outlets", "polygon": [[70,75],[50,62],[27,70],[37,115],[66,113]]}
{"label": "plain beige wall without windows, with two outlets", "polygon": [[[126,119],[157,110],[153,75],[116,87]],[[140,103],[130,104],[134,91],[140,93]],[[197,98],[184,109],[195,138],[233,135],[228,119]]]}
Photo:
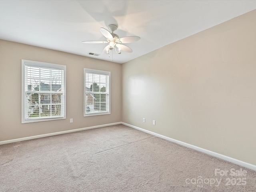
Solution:
{"label": "plain beige wall without windows, with two outlets", "polygon": [[255,18],[256,10],[123,64],[122,121],[256,165]]}

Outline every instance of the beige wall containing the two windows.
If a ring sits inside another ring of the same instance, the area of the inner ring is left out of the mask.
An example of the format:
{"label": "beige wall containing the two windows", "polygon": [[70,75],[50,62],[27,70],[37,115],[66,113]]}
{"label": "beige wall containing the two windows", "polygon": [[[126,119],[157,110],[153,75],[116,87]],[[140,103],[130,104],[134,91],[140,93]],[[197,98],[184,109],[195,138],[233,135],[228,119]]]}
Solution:
{"label": "beige wall containing the two windows", "polygon": [[[66,65],[66,119],[21,124],[21,59]],[[84,68],[111,72],[110,115],[83,116]],[[121,74],[121,64],[0,40],[0,141],[121,122]]]}

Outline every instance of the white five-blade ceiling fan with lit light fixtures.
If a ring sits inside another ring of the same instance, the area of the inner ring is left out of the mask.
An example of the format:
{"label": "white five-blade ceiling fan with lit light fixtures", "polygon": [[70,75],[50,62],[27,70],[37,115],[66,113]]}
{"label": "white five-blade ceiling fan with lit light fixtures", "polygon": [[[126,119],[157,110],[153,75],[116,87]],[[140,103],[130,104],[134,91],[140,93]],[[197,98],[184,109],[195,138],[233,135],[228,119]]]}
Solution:
{"label": "white five-blade ceiling fan with lit light fixtures", "polygon": [[128,36],[119,38],[117,34],[113,32],[117,29],[117,26],[114,24],[110,24],[108,28],[112,31],[110,33],[105,28],[100,28],[100,32],[104,37],[106,37],[106,41],[82,41],[83,43],[108,43],[108,45],[103,49],[103,53],[109,54],[111,50],[115,49],[118,54],[121,54],[121,50],[124,52],[131,53],[132,49],[123,43],[132,43],[140,40],[140,37],[137,36]]}

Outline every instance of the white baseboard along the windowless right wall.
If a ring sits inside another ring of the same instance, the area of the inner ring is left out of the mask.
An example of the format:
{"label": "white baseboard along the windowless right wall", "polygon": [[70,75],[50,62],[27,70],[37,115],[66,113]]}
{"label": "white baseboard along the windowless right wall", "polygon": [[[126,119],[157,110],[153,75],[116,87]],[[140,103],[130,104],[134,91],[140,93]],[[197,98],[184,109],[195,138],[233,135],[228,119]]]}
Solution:
{"label": "white baseboard along the windowless right wall", "polygon": [[127,124],[127,123],[124,123],[124,122],[122,122],[122,124],[126,125],[126,126],[129,126],[129,127],[132,127],[134,129],[146,132],[148,134],[163,138],[165,140],[180,144],[180,145],[185,146],[187,148],[191,148],[191,149],[206,153],[208,155],[211,155],[211,156],[214,156],[214,157],[217,157],[217,158],[226,160],[228,162],[231,162],[231,163],[234,163],[234,164],[237,164],[237,165],[240,165],[240,166],[243,166],[243,167],[246,167],[246,168],[249,168],[249,169],[252,169],[252,170],[256,171],[256,165],[253,165],[253,164],[250,164],[250,163],[247,163],[247,162],[244,162],[244,161],[240,161],[238,159],[234,159],[232,157],[228,157],[228,156],[225,156],[225,155],[222,155],[222,154],[219,154],[219,153],[216,153],[216,152],[204,149],[204,148],[200,148],[200,147],[197,147],[197,146],[194,146],[194,145],[191,145],[191,144],[188,144],[188,143],[176,140],[176,139],[172,139],[172,138],[169,138],[169,137],[166,137],[166,136],[163,136],[163,135],[160,135],[160,134],[157,134],[157,133],[154,133],[154,132],[151,132],[151,131],[148,131],[148,130],[145,130],[145,129],[142,129],[142,128],[139,128],[139,127],[136,127],[136,126],[133,126],[133,125],[130,125],[130,124]]}

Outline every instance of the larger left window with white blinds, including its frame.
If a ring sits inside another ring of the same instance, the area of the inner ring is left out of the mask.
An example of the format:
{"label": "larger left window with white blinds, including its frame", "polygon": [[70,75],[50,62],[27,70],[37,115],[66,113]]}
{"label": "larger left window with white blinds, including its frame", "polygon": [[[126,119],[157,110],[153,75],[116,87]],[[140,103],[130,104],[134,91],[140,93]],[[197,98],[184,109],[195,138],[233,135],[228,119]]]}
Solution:
{"label": "larger left window with white blinds, including its frame", "polygon": [[66,66],[22,60],[22,123],[66,118]]}

